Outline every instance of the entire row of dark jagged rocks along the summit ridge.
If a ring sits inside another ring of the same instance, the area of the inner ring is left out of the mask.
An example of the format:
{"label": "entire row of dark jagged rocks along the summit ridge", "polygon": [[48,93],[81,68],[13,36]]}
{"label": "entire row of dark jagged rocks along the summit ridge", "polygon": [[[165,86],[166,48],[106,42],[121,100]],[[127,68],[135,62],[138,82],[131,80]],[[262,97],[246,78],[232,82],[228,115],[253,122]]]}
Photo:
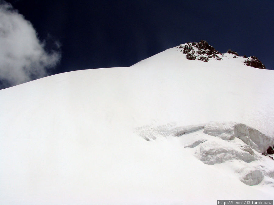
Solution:
{"label": "entire row of dark jagged rocks along the summit ridge", "polygon": [[[208,62],[210,59],[215,58],[215,60],[223,60],[221,57],[224,56],[224,54],[217,51],[213,46],[210,46],[205,40],[201,40],[198,43],[191,43],[188,42],[186,44],[181,44],[177,47],[178,49],[181,49],[180,52],[186,54],[186,58],[188,60],[201,60],[204,62]],[[233,58],[237,57],[243,57],[247,58],[246,55],[239,56],[239,54],[235,51],[232,51],[229,49],[227,53],[233,54]],[[265,69],[265,66],[262,64],[260,60],[258,60],[257,57],[251,56],[247,60],[244,60],[243,63],[247,66],[255,67],[255,68],[261,68]]]}

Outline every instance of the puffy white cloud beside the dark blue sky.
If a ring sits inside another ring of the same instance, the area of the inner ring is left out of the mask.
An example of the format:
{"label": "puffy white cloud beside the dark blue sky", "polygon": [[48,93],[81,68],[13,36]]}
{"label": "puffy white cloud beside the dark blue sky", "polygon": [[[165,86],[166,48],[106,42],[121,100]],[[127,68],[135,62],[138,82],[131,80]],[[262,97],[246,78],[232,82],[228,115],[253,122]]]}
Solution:
{"label": "puffy white cloud beside the dark blue sky", "polygon": [[45,51],[23,15],[9,3],[0,3],[0,81],[4,87],[47,76],[60,58],[60,52]]}

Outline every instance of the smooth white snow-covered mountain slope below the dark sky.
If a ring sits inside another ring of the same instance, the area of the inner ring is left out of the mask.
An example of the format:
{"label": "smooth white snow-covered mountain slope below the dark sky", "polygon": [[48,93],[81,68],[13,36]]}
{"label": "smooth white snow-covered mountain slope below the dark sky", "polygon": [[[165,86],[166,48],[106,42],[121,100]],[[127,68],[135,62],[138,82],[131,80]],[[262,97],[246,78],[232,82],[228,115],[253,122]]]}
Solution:
{"label": "smooth white snow-covered mountain slope below the dark sky", "polygon": [[189,45],[1,90],[1,203],[273,200],[274,72]]}

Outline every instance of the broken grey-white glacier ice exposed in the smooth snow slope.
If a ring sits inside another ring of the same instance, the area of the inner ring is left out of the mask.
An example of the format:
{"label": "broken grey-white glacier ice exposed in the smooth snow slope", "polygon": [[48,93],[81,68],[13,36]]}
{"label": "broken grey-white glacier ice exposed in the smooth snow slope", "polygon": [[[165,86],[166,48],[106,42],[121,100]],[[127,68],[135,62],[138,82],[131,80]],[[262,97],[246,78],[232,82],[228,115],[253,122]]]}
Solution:
{"label": "broken grey-white glacier ice exposed in the smooth snow slope", "polygon": [[[272,138],[243,123],[209,122],[178,127],[176,123],[169,123],[138,127],[135,132],[148,141],[159,137],[180,138],[184,148],[194,149],[196,158],[207,165],[237,161],[239,165],[235,163],[234,173],[239,174],[240,181],[246,185],[257,185],[264,176],[274,176],[271,166],[265,171],[266,167],[262,165],[264,156],[261,155],[274,145]],[[251,162],[256,163],[253,165]],[[258,163],[261,165],[257,166]]]}

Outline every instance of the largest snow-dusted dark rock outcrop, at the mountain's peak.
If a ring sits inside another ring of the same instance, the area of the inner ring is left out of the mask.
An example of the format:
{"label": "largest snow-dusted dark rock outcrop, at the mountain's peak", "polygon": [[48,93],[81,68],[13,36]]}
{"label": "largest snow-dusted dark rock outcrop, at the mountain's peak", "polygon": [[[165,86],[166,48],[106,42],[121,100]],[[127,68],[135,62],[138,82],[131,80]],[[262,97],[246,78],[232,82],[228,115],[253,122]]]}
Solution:
{"label": "largest snow-dusted dark rock outcrop, at the mountain's peak", "polygon": [[215,50],[212,46],[210,46],[206,41],[201,40],[198,43],[186,43],[185,46],[182,44],[177,48],[183,49],[182,53],[186,54],[186,58],[188,60],[201,60],[204,62],[209,61],[211,58],[215,58],[215,60],[222,60],[221,57],[217,55],[222,55],[219,51]]}

